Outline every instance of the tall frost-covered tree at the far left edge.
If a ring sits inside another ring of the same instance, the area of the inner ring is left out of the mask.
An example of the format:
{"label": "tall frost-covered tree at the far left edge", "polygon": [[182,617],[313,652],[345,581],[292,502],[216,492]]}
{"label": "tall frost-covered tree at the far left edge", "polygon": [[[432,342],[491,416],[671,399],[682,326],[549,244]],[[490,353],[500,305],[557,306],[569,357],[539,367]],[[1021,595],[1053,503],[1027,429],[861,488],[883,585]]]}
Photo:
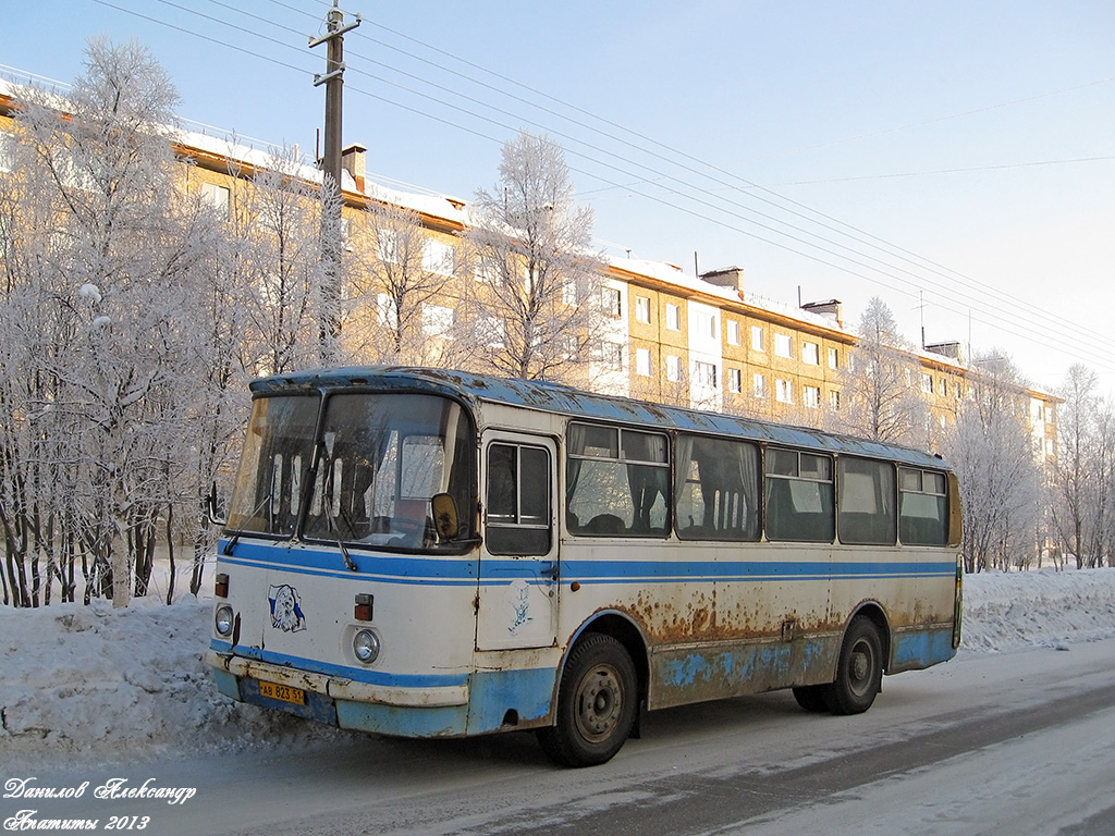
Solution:
{"label": "tall frost-covered tree at the far left edge", "polygon": [[[21,98],[7,224],[0,499],[14,603],[127,603],[178,474],[196,217],[176,201],[177,96],[136,43],[94,40],[69,95]],[[19,561],[31,571],[18,589]],[[9,584],[11,585],[11,584]]]}

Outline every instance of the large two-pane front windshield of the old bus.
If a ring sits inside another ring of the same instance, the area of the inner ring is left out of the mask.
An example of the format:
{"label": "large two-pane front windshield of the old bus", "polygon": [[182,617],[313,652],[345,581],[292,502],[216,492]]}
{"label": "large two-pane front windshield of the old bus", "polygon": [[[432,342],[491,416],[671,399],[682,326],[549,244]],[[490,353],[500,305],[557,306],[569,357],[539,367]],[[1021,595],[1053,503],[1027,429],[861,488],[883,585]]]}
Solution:
{"label": "large two-pane front windshield of the old bus", "polygon": [[312,396],[255,401],[231,531],[444,550],[453,543],[438,542],[430,498],[446,493],[458,508],[454,542],[474,536],[475,445],[459,405],[426,395],[337,393],[316,432],[319,405]]}

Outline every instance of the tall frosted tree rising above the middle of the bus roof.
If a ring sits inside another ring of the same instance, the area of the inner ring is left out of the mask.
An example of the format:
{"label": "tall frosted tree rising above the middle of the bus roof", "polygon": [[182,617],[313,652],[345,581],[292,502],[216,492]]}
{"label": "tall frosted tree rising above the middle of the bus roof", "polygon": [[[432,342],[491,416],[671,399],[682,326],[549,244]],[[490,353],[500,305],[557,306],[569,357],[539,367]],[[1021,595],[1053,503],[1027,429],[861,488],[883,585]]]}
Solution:
{"label": "tall frosted tree rising above the middle of the bus roof", "polygon": [[583,368],[603,330],[592,220],[559,146],[525,130],[504,145],[500,178],[477,191],[465,232],[475,281],[462,283],[455,346],[471,367],[533,379]]}

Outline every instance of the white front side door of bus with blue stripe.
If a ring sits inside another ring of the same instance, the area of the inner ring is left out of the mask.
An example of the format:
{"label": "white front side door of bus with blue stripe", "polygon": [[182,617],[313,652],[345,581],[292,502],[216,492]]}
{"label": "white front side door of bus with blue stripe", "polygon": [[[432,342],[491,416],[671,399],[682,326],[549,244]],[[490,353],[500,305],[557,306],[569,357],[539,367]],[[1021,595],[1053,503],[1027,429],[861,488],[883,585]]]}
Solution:
{"label": "white front side door of bus with blue stripe", "polygon": [[556,640],[561,571],[556,448],[550,438],[487,432],[483,459],[476,648],[549,648]]}

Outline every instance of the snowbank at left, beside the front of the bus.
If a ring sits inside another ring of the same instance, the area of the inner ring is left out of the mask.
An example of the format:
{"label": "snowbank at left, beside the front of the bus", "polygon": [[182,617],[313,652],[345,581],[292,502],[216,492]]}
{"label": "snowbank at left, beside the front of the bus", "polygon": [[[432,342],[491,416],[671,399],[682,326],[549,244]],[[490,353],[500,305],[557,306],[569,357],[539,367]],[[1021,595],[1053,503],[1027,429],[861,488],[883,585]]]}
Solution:
{"label": "snowbank at left, beside the front of the bus", "polygon": [[217,693],[202,654],[212,602],[0,606],[0,761],[237,751],[334,729]]}

